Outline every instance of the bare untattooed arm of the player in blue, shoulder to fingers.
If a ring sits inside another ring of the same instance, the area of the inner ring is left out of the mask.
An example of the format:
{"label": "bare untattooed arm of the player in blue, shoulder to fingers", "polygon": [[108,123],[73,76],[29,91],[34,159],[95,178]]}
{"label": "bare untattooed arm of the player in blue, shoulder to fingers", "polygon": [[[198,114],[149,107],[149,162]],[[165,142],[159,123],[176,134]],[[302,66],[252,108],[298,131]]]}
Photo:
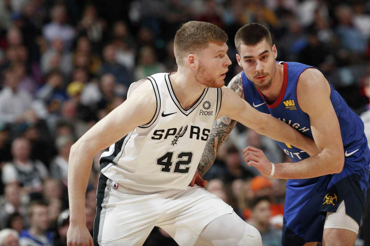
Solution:
{"label": "bare untattooed arm of the player in blue, shoulder to fingers", "polygon": [[[275,164],[273,177],[306,179],[340,173],[344,166],[342,135],[330,101],[329,83],[319,70],[310,68],[302,73],[297,85],[297,100],[299,107],[310,116],[312,136],[320,152],[296,163]],[[262,151],[247,150],[245,159],[252,160],[248,164],[265,172],[261,172],[263,175],[269,175],[271,169],[264,170],[264,167],[271,165]]]}

